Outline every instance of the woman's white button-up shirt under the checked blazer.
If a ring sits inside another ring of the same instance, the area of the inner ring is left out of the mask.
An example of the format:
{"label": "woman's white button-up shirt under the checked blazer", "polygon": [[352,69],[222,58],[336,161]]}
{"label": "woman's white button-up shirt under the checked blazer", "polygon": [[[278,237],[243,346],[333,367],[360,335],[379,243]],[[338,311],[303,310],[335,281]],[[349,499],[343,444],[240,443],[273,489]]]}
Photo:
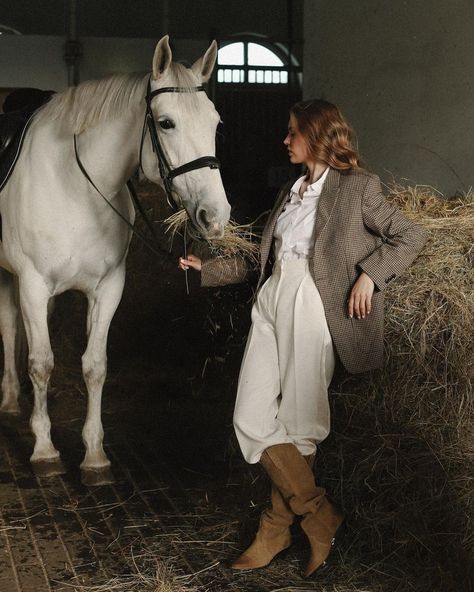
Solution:
{"label": "woman's white button-up shirt under the checked blazer", "polygon": [[273,232],[276,260],[308,259],[313,247],[314,225],[318,200],[326,180],[329,167],[312,185],[308,185],[303,196],[300,188],[306,177],[300,177],[290,189],[290,196]]}

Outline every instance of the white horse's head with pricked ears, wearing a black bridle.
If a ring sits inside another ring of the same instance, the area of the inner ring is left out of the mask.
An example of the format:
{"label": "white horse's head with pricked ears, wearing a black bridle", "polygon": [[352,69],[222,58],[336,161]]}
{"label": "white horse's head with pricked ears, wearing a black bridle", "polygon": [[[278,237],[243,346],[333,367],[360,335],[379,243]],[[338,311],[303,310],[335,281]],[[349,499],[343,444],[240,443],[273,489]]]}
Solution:
{"label": "white horse's head with pricked ears, wearing a black bridle", "polygon": [[[145,175],[160,183],[162,176],[169,173],[173,199],[178,196],[178,203],[186,208],[204,238],[221,238],[230,214],[215,159],[219,114],[199,88],[211,76],[216,56],[214,41],[191,68],[186,68],[172,62],[168,36],[161,39],[153,57],[148,90],[149,124],[153,126],[154,122],[156,137],[153,141],[149,125],[142,149]],[[189,167],[183,167],[187,164]],[[183,169],[176,170],[180,167]]]}

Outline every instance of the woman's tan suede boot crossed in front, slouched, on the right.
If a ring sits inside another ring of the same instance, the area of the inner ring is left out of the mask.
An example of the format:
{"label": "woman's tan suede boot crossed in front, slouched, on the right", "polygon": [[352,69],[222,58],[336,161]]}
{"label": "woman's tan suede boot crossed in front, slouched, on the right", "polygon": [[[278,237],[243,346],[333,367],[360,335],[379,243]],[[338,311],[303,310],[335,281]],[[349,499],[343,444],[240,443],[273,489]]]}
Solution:
{"label": "woman's tan suede boot crossed in front, slouched, on the right", "polygon": [[344,516],[327,499],[326,490],[316,486],[313,472],[293,444],[270,446],[260,462],[293,512],[303,516],[301,527],[311,545],[308,577],[324,565]]}

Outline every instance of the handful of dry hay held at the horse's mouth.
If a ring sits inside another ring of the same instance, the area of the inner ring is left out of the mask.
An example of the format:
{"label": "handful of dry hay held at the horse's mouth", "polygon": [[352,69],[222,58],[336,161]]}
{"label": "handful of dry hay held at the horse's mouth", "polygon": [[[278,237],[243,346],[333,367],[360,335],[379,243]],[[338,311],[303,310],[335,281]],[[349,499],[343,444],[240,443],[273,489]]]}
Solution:
{"label": "handful of dry hay held at the horse's mouth", "polygon": [[[194,226],[189,223],[188,213],[184,209],[166,218],[164,224],[167,226],[165,232],[171,235],[171,239],[175,237],[176,233],[180,233],[202,242]],[[237,224],[230,220],[224,228],[223,238],[207,241],[211,256],[223,258],[241,257],[247,259],[250,265],[257,265],[260,236],[255,232],[254,228],[255,223]]]}

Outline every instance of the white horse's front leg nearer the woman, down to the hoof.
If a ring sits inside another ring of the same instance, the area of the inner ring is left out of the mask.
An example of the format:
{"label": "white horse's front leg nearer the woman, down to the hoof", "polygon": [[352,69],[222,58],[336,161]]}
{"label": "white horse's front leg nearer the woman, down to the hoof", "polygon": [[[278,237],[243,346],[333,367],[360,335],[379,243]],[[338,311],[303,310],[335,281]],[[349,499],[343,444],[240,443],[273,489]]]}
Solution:
{"label": "white horse's front leg nearer the woman, down to the hoof", "polygon": [[113,483],[110,461],[104,452],[104,430],[101,419],[102,388],[107,373],[107,336],[110,322],[123,292],[125,266],[104,278],[88,294],[87,328],[89,339],[82,356],[82,372],[89,395],[87,417],[82,431],[86,454],[81,463],[84,485]]}

